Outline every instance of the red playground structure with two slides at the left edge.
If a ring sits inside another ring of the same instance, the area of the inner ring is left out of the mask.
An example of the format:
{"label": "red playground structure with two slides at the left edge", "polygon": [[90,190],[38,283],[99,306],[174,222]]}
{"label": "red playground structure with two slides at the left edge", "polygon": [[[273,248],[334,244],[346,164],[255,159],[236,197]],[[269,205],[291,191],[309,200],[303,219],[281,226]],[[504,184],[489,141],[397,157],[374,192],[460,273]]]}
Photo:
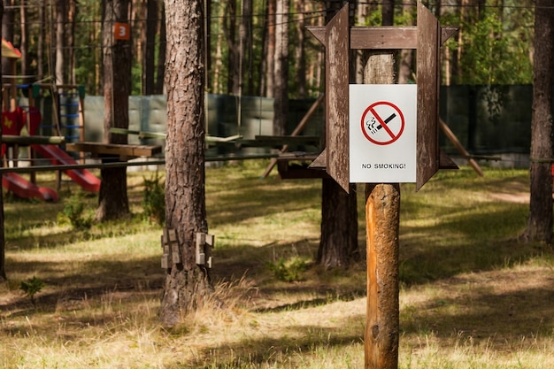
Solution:
{"label": "red playground structure with two slides at the left edge", "polygon": [[[14,76],[15,61],[21,57],[21,54],[19,50],[14,49],[5,40],[2,40],[2,50],[3,56],[11,62],[12,76]],[[55,92],[52,94],[54,96],[54,109],[52,109],[52,124],[42,127],[42,115],[39,109],[34,106],[34,103],[35,98],[40,95],[40,91],[45,87]],[[17,106],[18,88],[27,88],[27,103],[19,104],[19,106]],[[49,131],[50,135],[52,133],[59,135],[62,131],[65,131],[67,137],[58,140],[58,144],[65,142],[65,139],[82,140],[84,136],[82,117],[84,88],[81,86],[54,87],[45,84],[17,86],[14,77],[12,77],[10,83],[4,86],[3,94],[5,104],[2,112],[2,131],[5,138],[3,137],[0,158],[3,158],[4,164],[11,161],[13,166],[17,166],[19,147],[27,146],[30,148],[28,159],[31,165],[33,165],[35,155],[49,160],[52,165],[77,165],[75,159],[53,144],[56,140],[36,136],[36,133],[39,129]],[[21,134],[23,128],[27,130],[25,135]],[[75,131],[78,132],[78,135],[74,135]],[[86,191],[98,192],[100,190],[100,180],[86,169],[65,169],[64,173]],[[39,187],[34,181],[34,173],[31,174],[31,181],[27,181],[17,173],[4,172],[2,175],[3,187],[16,196],[58,201],[58,193],[54,189]]]}

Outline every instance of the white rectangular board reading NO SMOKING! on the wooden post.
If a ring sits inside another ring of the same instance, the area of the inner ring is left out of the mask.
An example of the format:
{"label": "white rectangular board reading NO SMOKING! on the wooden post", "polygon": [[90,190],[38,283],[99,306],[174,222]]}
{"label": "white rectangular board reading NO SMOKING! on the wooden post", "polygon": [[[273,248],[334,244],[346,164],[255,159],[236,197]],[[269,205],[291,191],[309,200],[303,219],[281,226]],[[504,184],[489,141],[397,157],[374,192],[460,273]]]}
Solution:
{"label": "white rectangular board reading NO SMOKING! on the wooden post", "polygon": [[350,183],[416,181],[416,85],[350,85]]}

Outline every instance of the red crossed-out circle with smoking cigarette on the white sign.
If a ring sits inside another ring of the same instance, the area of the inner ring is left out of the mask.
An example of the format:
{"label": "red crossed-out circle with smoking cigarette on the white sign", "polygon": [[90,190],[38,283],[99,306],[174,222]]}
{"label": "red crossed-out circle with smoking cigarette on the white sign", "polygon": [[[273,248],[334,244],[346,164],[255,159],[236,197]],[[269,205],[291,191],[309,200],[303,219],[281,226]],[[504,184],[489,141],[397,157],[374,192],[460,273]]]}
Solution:
{"label": "red crossed-out circle with smoking cigarette on the white sign", "polygon": [[369,105],[361,123],[365,138],[376,145],[389,145],[404,132],[404,114],[387,101]]}

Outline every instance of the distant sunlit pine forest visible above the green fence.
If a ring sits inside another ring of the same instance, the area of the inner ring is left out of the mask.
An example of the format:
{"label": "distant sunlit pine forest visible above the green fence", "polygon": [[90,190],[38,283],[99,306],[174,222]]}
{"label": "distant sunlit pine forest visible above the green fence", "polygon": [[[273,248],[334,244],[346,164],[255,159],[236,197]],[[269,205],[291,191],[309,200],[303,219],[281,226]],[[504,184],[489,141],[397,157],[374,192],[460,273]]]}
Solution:
{"label": "distant sunlit pine forest visible above the green fence", "polygon": [[[322,47],[305,27],[323,26],[342,1],[204,0],[209,52],[206,90],[214,94],[289,98],[323,90]],[[532,0],[423,1],[442,26],[459,32],[442,48],[442,85],[532,83]],[[380,26],[381,2],[350,2],[356,26]],[[83,84],[103,95],[101,28],[104,1],[5,0],[2,34],[21,51],[19,83]],[[129,4],[132,95],[164,93],[163,0]],[[415,24],[416,1],[396,1],[395,24]],[[361,78],[361,56],[358,55]],[[398,79],[413,82],[414,51],[398,56]],[[281,61],[284,60],[281,66]],[[5,69],[4,69],[5,72]],[[9,74],[9,73],[4,73]],[[284,79],[286,83],[279,83]]]}

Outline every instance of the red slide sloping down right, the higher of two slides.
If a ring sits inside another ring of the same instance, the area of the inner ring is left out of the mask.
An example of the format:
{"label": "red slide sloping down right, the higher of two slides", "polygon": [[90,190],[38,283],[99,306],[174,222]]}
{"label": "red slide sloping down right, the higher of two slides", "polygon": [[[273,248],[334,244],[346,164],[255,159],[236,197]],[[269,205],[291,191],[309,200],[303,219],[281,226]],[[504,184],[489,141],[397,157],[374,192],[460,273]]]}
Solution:
{"label": "red slide sloping down right, the higher of two slides", "polygon": [[[52,165],[76,165],[75,159],[70,157],[64,150],[55,145],[31,145],[42,158],[50,160]],[[100,191],[100,180],[93,173],[86,169],[68,169],[64,171],[74,182],[88,192]]]}

